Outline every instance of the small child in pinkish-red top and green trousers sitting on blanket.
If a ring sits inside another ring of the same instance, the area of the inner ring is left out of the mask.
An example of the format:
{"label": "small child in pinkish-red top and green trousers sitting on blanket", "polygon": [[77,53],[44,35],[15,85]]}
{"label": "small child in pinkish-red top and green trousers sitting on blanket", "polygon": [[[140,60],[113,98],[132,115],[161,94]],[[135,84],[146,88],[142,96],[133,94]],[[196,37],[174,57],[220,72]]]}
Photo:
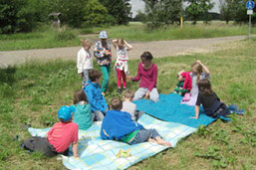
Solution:
{"label": "small child in pinkish-red top and green trousers sitting on blanket", "polygon": [[184,96],[185,93],[189,93],[192,88],[192,82],[190,72],[184,72],[183,70],[177,74],[178,83],[175,86],[173,92]]}

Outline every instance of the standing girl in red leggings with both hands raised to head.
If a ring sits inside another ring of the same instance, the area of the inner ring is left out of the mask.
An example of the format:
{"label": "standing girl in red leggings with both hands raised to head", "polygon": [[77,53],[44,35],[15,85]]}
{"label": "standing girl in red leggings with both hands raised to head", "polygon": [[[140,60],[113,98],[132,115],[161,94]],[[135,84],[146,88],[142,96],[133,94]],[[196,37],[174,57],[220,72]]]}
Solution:
{"label": "standing girl in red leggings with both hands raised to head", "polygon": [[127,88],[127,75],[128,75],[128,51],[132,49],[125,40],[113,40],[113,45],[117,49],[117,61],[115,64],[115,69],[118,74],[118,91],[122,92],[121,82],[123,79],[123,88]]}

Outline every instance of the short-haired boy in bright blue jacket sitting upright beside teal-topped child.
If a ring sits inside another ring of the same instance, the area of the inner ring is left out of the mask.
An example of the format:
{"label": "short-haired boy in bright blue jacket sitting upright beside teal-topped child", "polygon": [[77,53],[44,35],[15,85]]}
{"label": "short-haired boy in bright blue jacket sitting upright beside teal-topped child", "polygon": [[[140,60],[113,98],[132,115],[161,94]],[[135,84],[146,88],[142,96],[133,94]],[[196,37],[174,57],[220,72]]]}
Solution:
{"label": "short-haired boy in bright blue jacket sitting upright beside teal-topped child", "polygon": [[84,90],[87,94],[89,103],[92,106],[92,113],[95,114],[95,117],[98,121],[102,121],[105,113],[108,110],[107,101],[102,94],[100,88],[102,73],[96,70],[90,70],[88,84],[84,87]]}

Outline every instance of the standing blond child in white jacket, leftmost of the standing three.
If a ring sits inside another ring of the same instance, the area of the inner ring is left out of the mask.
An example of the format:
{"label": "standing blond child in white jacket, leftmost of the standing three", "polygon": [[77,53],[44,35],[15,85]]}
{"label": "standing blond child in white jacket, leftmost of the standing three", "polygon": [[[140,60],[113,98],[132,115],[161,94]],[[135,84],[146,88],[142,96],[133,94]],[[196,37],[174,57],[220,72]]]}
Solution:
{"label": "standing blond child in white jacket, leftmost of the standing three", "polygon": [[82,49],[78,52],[77,68],[78,74],[83,78],[82,88],[87,85],[89,71],[93,69],[93,57],[90,53],[92,43],[89,40],[81,40]]}

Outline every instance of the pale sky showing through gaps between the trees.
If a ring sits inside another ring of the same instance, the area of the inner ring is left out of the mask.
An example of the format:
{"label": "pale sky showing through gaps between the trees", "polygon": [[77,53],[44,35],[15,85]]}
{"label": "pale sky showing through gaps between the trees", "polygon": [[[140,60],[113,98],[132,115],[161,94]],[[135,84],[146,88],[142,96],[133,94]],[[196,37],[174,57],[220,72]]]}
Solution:
{"label": "pale sky showing through gaps between the trees", "polygon": [[[214,7],[210,10],[210,12],[219,13],[219,0],[211,0],[215,3]],[[129,0],[129,4],[131,5],[131,13],[132,18],[136,16],[137,11],[143,11],[144,2],[142,0]]]}

